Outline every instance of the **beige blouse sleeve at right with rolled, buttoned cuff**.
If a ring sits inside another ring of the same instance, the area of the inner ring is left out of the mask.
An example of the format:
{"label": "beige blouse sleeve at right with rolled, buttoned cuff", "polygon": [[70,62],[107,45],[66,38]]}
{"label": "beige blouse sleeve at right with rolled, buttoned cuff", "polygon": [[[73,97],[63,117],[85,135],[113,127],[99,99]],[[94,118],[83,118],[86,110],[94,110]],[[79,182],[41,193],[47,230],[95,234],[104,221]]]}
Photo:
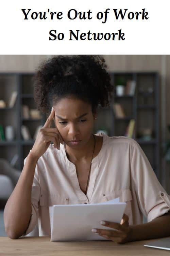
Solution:
{"label": "beige blouse sleeve at right with rolled, buttoned cuff", "polygon": [[131,173],[138,206],[147,216],[147,221],[167,213],[170,210],[170,196],[157,180],[148,158],[137,142],[133,148]]}

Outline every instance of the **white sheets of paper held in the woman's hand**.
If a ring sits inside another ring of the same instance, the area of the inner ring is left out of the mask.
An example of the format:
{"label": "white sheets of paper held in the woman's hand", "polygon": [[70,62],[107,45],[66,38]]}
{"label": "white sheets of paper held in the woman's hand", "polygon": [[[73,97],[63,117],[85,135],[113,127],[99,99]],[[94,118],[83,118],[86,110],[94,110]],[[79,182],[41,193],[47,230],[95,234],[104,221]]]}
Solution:
{"label": "white sheets of paper held in the woman's hand", "polygon": [[100,222],[120,223],[125,207],[119,198],[96,204],[53,205],[49,207],[51,241],[106,240],[91,229],[112,229]]}

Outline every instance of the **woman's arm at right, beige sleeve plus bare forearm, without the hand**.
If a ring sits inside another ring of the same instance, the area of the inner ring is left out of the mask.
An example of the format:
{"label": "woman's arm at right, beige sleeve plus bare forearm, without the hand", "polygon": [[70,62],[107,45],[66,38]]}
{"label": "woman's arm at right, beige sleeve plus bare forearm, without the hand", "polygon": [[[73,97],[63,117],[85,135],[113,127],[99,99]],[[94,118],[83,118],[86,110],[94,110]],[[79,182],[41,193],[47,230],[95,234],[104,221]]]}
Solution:
{"label": "woman's arm at right, beige sleeve plus bare forearm, without the hand", "polygon": [[137,142],[134,143],[131,161],[133,196],[148,223],[131,226],[132,241],[170,236],[170,197],[145,153]]}

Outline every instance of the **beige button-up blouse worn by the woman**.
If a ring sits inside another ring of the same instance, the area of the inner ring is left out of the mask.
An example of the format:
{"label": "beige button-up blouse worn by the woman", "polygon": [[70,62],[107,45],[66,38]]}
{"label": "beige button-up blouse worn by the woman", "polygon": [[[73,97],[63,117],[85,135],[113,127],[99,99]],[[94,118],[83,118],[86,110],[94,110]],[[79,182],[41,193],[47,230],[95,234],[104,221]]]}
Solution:
{"label": "beige button-up blouse worn by the woman", "polygon": [[[66,156],[64,145],[50,144],[38,159],[32,186],[32,214],[23,235],[38,222],[39,236],[51,236],[49,206],[54,204],[99,203],[120,197],[126,202],[129,225],[148,222],[170,210],[166,193],[139,144],[127,137],[103,136],[99,154],[92,159],[87,195],[80,189],[75,165]],[[27,160],[24,159],[24,164]],[[114,213],[113,213],[114,214]]]}

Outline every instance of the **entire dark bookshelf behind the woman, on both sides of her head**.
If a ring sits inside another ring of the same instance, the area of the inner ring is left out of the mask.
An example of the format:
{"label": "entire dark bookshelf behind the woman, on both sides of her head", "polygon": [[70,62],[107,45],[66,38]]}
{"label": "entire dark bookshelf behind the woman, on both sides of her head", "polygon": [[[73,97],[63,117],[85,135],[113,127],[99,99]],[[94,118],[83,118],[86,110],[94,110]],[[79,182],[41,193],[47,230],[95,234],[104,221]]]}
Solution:
{"label": "entire dark bookshelf behind the woman, on both sides of her head", "polygon": [[[94,133],[97,130],[106,128],[109,136],[124,136],[125,129],[129,121],[133,118],[136,122],[136,133],[134,139],[140,144],[147,155],[158,179],[160,178],[160,154],[159,154],[159,88],[158,74],[156,72],[112,72],[111,82],[115,84],[118,76],[122,76],[126,81],[136,81],[134,96],[114,95],[111,100],[111,107],[98,110]],[[13,156],[18,154],[15,168],[22,170],[23,160],[29,154],[34,144],[34,140],[24,141],[21,136],[21,125],[29,128],[31,138],[37,126],[44,125],[46,115],[41,114],[40,119],[22,118],[22,105],[28,105],[31,109],[36,109],[33,99],[33,73],[0,73],[0,100],[8,101],[12,91],[17,91],[17,99],[13,108],[0,109],[0,124],[5,127],[12,125],[15,131],[13,141],[0,141],[0,157],[11,162]],[[147,91],[148,87],[152,88]],[[112,104],[120,103],[126,110],[126,117],[115,116]],[[153,138],[144,141],[139,137],[140,128],[152,128]]]}

